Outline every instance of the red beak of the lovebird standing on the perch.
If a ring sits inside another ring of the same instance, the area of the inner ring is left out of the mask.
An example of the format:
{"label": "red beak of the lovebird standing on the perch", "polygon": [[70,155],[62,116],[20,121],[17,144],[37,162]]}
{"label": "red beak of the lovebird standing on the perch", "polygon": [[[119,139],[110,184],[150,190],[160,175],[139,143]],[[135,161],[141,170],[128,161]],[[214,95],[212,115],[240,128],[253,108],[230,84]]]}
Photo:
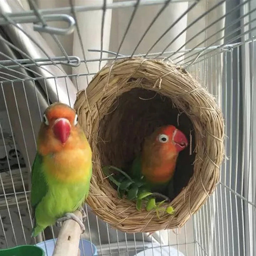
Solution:
{"label": "red beak of the lovebird standing on the perch", "polygon": [[70,135],[70,123],[66,118],[59,118],[54,122],[53,132],[58,140],[64,144]]}

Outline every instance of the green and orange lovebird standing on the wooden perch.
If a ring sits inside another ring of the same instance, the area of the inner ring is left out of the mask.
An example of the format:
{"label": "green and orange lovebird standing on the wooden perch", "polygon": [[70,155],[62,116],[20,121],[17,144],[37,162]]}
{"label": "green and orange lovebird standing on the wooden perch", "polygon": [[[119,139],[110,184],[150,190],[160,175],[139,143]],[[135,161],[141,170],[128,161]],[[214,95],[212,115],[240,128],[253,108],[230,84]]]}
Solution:
{"label": "green and orange lovebird standing on the wooden perch", "polygon": [[92,175],[92,151],[73,108],[53,103],[43,115],[31,172],[32,237],[83,210]]}

